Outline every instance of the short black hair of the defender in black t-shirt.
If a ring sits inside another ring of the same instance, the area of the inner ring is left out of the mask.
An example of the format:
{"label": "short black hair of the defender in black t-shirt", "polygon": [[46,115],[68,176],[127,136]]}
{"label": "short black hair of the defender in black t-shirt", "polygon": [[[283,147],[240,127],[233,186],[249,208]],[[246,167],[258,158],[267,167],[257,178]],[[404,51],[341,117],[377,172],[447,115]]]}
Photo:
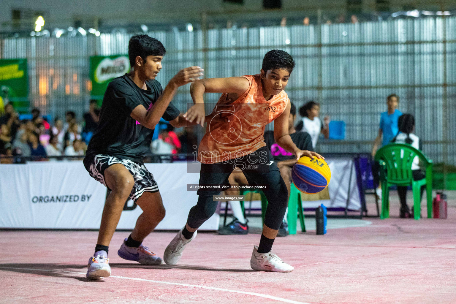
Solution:
{"label": "short black hair of the defender in black t-shirt", "polygon": [[160,41],[148,35],[135,35],[128,43],[130,67],[135,67],[135,59],[140,56],[144,62],[147,56],[165,56],[166,49]]}

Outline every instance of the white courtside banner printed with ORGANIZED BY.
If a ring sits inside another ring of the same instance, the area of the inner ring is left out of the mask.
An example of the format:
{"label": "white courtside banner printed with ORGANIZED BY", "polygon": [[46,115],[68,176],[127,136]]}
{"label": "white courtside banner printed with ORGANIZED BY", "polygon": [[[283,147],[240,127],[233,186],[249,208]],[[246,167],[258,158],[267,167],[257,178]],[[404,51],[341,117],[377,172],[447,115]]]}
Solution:
{"label": "white courtside banner printed with ORGANIZED BY", "polygon": [[[166,216],[157,229],[181,229],[197,202],[198,173],[187,173],[187,163],[146,164],[158,183]],[[106,187],[90,177],[82,161],[31,162],[0,165],[0,227],[98,229]],[[129,203],[132,205],[132,201]],[[133,229],[141,209],[123,211],[119,229]],[[217,230],[212,216],[201,230]]]}

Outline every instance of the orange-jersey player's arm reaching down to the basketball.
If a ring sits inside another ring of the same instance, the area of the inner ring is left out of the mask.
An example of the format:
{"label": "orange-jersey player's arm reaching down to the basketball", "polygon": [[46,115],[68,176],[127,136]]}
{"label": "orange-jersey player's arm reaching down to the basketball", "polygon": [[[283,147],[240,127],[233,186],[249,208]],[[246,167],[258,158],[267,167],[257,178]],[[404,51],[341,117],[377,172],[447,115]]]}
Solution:
{"label": "orange-jersey player's arm reaching down to the basketball", "polygon": [[301,150],[296,147],[293,140],[291,140],[290,134],[288,134],[288,116],[290,115],[290,103],[287,104],[285,110],[280,114],[274,121],[274,139],[280,147],[296,155],[296,160],[299,160],[301,156],[309,156],[310,158],[322,158],[323,156],[318,153]]}

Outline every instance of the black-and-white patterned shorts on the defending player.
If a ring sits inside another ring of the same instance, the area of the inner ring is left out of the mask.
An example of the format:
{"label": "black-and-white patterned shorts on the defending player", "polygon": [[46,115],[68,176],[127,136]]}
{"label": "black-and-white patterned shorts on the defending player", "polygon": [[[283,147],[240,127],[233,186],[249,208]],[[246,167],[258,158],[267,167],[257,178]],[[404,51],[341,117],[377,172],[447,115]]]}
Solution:
{"label": "black-and-white patterned shorts on the defending player", "polygon": [[145,191],[159,191],[157,182],[154,180],[154,175],[147,170],[145,165],[137,164],[132,160],[124,160],[106,154],[97,154],[90,163],[88,173],[109,189],[104,181],[104,170],[113,164],[124,165],[130,171],[131,175],[133,175],[135,185],[133,185],[130,193],[130,198],[133,201],[136,202]]}

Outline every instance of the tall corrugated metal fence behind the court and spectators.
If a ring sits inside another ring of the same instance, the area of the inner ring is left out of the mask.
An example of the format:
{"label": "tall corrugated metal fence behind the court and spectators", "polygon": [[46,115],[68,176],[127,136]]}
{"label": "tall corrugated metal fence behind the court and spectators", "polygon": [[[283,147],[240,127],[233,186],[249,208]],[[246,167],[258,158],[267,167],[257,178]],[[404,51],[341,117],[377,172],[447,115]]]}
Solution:
{"label": "tall corrugated metal fence behind the court and spectators", "polygon": [[[89,60],[126,54],[132,34],[27,37],[0,40],[1,58],[28,59],[31,106],[62,117],[88,108]],[[206,77],[258,73],[264,53],[280,48],[296,68],[287,93],[296,106],[321,103],[321,114],[347,123],[345,141],[320,140],[321,152],[367,152],[378,132],[386,96],[416,118],[416,134],[435,162],[456,165],[456,18],[208,31],[149,32],[166,47],[157,79],[166,85],[179,69],[199,65]],[[218,94],[208,94],[215,102]],[[185,110],[188,86],[174,103]]]}

